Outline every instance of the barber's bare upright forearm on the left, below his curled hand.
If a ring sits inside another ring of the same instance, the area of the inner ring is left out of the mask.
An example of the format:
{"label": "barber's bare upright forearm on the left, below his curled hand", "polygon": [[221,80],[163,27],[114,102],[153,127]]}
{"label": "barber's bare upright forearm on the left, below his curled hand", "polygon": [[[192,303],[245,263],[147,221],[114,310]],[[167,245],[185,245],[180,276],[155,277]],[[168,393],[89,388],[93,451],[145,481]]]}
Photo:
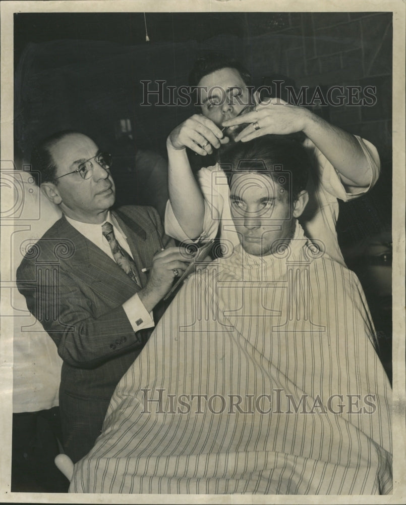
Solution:
{"label": "barber's bare upright forearm on the left, below his curled hand", "polygon": [[168,141],[167,150],[170,205],[186,235],[194,239],[203,232],[204,198],[190,168],[186,149],[175,149]]}

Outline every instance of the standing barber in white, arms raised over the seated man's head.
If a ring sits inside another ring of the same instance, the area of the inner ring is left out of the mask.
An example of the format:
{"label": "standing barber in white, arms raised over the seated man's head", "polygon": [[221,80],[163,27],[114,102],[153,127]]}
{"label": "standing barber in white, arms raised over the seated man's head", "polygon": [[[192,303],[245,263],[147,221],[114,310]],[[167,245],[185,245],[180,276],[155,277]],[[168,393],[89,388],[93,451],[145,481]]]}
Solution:
{"label": "standing barber in white, arms raised over the seated man's head", "polygon": [[[337,198],[349,201],[375,184],[380,168],[376,148],[304,107],[280,99],[255,103],[251,84],[251,75],[235,60],[218,55],[197,60],[190,85],[201,91],[201,114],[178,125],[166,143],[169,200],[165,232],[185,242],[214,238],[219,232],[226,248],[237,245],[224,173],[209,155],[229,139],[245,142],[266,134],[297,133],[305,137],[304,145],[315,160],[307,187],[309,205],[301,224],[309,238],[322,240],[329,256],[344,265],[335,230]],[[197,172],[197,180],[186,147],[211,158]]]}

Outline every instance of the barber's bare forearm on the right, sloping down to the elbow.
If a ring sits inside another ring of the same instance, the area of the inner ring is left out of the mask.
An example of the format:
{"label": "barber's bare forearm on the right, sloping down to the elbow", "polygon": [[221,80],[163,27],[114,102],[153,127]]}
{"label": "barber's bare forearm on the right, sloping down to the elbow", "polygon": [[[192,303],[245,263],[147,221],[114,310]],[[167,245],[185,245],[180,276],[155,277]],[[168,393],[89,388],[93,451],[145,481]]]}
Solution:
{"label": "barber's bare forearm on the right, sloping down to the elbow", "polygon": [[341,181],[351,186],[368,186],[371,167],[357,138],[310,111],[305,114],[303,132],[339,172]]}

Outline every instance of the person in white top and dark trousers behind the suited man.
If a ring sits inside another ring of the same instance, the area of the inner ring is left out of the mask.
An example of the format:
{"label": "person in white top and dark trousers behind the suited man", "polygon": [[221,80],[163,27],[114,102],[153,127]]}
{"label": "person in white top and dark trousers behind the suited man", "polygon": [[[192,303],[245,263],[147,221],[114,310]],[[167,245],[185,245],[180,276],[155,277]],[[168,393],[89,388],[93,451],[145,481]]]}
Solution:
{"label": "person in white top and dark trousers behind the suited man", "polygon": [[64,482],[53,464],[59,451],[55,433],[62,359],[42,325],[28,312],[17,289],[16,271],[27,249],[61,217],[61,211],[41,192],[31,172],[2,162],[0,177],[2,239],[7,246],[2,258],[7,310],[2,314],[2,338],[8,340],[7,358],[13,364],[12,491],[52,492]]}

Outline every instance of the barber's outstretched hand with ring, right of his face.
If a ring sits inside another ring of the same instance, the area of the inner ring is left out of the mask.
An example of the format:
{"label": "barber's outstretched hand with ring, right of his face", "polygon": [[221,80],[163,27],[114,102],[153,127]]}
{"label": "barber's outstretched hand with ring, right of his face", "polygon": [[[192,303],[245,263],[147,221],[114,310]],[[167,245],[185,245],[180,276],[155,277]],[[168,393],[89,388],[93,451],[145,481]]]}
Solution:
{"label": "barber's outstretched hand with ring, right of his face", "polygon": [[311,115],[312,113],[303,107],[290,105],[281,98],[270,98],[257,104],[255,111],[224,121],[222,125],[228,127],[251,123],[235,138],[236,142],[247,142],[270,133],[287,135],[305,131]]}

